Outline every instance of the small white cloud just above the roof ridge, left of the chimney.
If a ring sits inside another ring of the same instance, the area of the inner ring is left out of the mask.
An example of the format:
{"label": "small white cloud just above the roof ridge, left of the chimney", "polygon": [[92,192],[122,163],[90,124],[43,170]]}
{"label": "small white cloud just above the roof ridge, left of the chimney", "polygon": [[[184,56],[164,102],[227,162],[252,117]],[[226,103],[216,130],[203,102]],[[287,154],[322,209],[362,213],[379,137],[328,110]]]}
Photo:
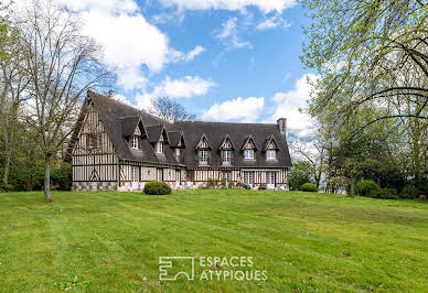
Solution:
{"label": "small white cloud just above the roof ridge, left of the chimney", "polygon": [[249,97],[226,100],[222,104],[214,104],[203,112],[202,118],[217,121],[239,120],[243,122],[254,122],[265,107],[264,97]]}

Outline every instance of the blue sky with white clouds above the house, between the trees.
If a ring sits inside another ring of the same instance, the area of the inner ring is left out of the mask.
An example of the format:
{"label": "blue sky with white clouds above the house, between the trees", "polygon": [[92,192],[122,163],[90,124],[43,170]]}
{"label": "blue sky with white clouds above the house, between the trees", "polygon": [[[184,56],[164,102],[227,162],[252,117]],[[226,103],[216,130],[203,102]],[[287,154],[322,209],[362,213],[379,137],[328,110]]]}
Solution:
{"label": "blue sky with white clouds above the house, between the trees", "polygon": [[310,127],[300,63],[308,24],[293,0],[57,0],[117,68],[117,99],[150,108],[169,96],[200,120]]}

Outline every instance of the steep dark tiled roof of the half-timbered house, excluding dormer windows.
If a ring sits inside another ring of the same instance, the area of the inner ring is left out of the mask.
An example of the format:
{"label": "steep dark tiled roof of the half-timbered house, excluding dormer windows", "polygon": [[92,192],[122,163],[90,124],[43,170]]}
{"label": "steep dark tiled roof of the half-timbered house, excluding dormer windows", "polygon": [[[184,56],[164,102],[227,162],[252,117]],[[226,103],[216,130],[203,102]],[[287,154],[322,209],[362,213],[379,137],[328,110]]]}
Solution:
{"label": "steep dark tiled roof of the half-timbered house, excluding dormer windows", "polygon": [[[205,137],[211,145],[210,166],[222,166],[220,146],[228,135],[233,150],[232,166],[238,167],[289,167],[291,159],[288,145],[276,123],[225,123],[225,122],[201,122],[201,121],[178,121],[170,123],[157,118],[146,111],[136,109],[128,105],[107,98],[94,91],[88,91],[83,105],[76,128],[73,132],[68,146],[67,158],[74,148],[76,138],[85,117],[88,102],[92,101],[100,116],[110,140],[121,159],[136,160],[148,163],[164,163],[178,165],[171,148],[176,148],[179,141],[185,141],[184,163],[188,167],[196,167],[197,145],[201,138]],[[129,148],[125,137],[131,135],[137,124],[141,120],[147,138],[141,141],[141,151]],[[164,155],[154,153],[152,143],[159,141],[162,132],[167,132],[167,144]],[[249,139],[253,139],[257,146],[255,151],[256,160],[244,160],[243,146]],[[266,160],[266,145],[274,140],[278,146],[277,160]],[[265,146],[260,149],[260,146]]]}

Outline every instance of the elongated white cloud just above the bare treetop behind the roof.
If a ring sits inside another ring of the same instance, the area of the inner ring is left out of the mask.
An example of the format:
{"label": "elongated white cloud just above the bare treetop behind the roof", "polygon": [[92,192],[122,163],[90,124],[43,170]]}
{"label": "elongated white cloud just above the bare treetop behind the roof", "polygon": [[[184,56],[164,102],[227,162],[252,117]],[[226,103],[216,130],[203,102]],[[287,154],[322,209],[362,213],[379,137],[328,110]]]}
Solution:
{"label": "elongated white cloud just above the bare treetop behind the roof", "polygon": [[191,98],[205,95],[211,87],[215,86],[212,80],[200,76],[185,76],[180,79],[167,77],[151,93],[138,95],[136,100],[139,107],[149,108],[151,100],[158,97]]}

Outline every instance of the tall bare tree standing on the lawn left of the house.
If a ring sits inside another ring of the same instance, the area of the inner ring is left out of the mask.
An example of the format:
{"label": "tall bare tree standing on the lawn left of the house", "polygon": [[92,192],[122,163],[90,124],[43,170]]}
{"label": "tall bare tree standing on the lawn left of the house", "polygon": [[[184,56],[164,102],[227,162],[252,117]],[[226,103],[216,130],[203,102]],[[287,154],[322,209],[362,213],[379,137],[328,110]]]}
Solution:
{"label": "tall bare tree standing on the lawn left of the house", "polygon": [[52,160],[72,132],[79,101],[113,76],[99,62],[100,47],[81,33],[79,19],[53,1],[30,2],[13,21],[25,47],[28,121],[44,156],[44,198],[52,202]]}

